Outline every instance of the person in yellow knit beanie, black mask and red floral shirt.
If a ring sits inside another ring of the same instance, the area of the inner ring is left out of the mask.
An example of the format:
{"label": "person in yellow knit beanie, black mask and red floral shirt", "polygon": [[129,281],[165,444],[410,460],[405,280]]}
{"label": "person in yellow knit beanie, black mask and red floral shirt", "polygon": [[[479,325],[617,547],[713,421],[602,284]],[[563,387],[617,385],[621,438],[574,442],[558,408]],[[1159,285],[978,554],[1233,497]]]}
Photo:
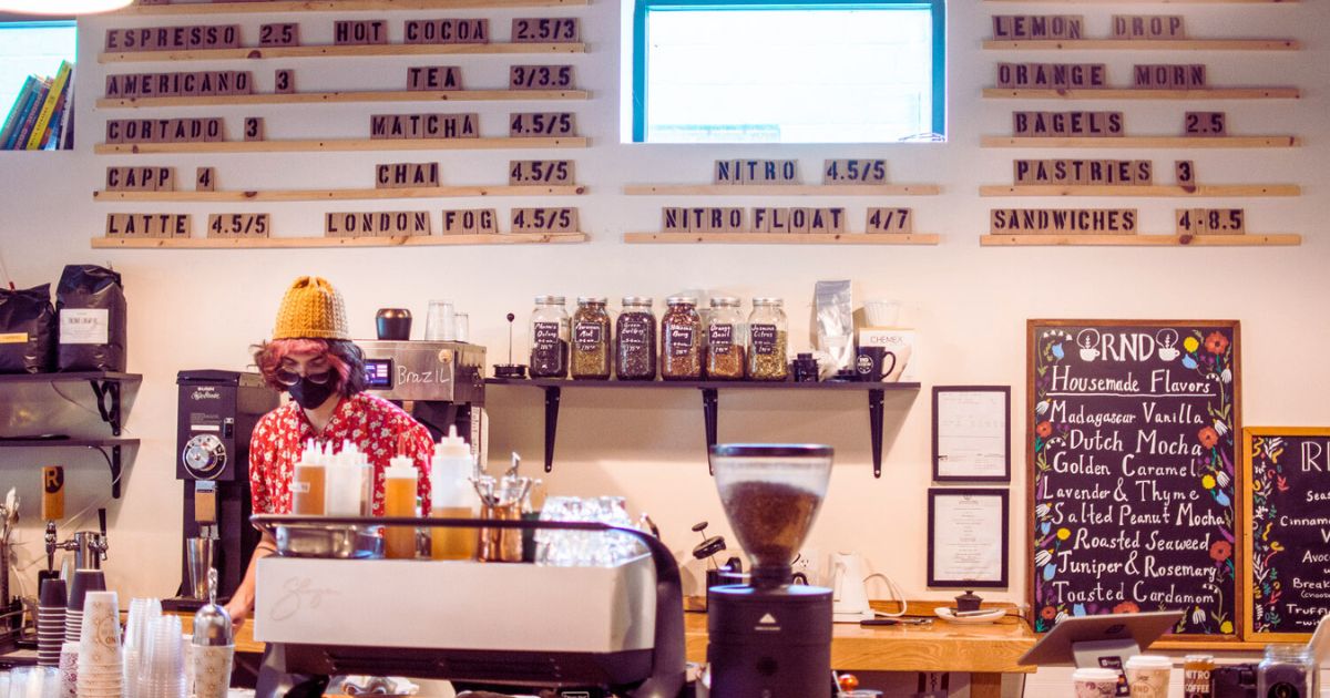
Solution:
{"label": "person in yellow knit beanie, black mask and red floral shirt", "polygon": [[[374,469],[374,513],[383,515],[383,471],[402,451],[416,467],[416,496],[430,513],[430,432],[400,407],[364,392],[364,358],[351,343],[342,294],[319,277],[301,277],[277,311],[273,339],[254,352],[263,380],[290,394],[263,415],[250,440],[250,495],[254,513],[291,513],[291,476],[305,444],[350,441]],[[226,610],[237,628],[254,608],[257,562],[277,544],[267,533]]]}

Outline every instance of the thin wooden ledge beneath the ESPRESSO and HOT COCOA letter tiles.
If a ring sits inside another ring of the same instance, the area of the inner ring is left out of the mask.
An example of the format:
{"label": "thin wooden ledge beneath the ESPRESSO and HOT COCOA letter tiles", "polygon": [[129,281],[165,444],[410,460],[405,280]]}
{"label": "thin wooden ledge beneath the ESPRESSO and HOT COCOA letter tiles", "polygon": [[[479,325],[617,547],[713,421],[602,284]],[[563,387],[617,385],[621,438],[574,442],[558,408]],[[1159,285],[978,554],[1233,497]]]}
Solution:
{"label": "thin wooden ledge beneath the ESPRESSO and HOT COCOA letter tiles", "polygon": [[[245,3],[247,7],[270,7],[283,3]],[[165,5],[157,5],[165,7]],[[209,5],[190,5],[209,7]],[[211,5],[217,7],[217,5]],[[250,11],[246,11],[250,12]],[[383,56],[459,56],[459,55],[555,55],[585,53],[587,44],[370,44],[307,47],[242,47],[184,51],[124,51],[98,53],[97,62],[164,62],[164,61],[234,61],[267,58],[374,58]]]}

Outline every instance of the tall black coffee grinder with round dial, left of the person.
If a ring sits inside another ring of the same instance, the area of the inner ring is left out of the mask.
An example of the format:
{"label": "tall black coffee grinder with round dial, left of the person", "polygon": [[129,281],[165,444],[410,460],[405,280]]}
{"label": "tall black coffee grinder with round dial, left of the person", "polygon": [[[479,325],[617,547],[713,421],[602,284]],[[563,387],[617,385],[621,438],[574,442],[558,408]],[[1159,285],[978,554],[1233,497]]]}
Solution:
{"label": "tall black coffee grinder with round dial, left of the person", "polygon": [[259,533],[250,525],[249,445],[254,425],[279,400],[262,376],[238,371],[181,371],[176,416],[176,479],[184,481],[181,584],[162,602],[194,610],[207,602],[207,569],[217,597],[230,598],[245,578]]}

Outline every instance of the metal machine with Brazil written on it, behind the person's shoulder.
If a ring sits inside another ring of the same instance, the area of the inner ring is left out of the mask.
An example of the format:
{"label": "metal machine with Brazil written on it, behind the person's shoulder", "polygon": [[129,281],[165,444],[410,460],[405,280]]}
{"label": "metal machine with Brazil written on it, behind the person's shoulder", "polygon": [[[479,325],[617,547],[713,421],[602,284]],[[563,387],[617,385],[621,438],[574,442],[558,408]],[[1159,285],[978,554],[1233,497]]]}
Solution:
{"label": "metal machine with Brazil written on it, behind the person's shoulder", "polygon": [[484,463],[485,348],[467,342],[358,339],[366,392],[400,404],[438,441],[458,427]]}

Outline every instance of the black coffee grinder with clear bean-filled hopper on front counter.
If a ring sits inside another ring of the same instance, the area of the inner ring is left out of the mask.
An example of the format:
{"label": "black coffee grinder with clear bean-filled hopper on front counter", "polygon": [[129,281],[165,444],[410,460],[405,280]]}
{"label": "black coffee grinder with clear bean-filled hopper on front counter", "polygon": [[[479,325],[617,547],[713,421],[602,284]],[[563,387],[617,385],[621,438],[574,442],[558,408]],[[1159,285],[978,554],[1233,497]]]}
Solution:
{"label": "black coffee grinder with clear bean-filled hopper on front counter", "polygon": [[829,698],[831,589],[791,584],[791,562],[826,497],[831,447],[718,444],[712,467],[751,562],[747,585],[710,589],[712,697]]}

